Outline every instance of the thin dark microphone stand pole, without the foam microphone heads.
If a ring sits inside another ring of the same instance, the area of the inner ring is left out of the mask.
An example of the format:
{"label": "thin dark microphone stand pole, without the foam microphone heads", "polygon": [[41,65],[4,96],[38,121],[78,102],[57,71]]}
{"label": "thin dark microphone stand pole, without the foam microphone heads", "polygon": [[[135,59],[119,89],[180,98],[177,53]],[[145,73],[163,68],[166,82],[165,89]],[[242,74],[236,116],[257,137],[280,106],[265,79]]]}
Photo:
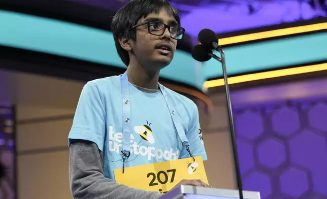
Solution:
{"label": "thin dark microphone stand pole, without the foam microphone heads", "polygon": [[235,166],[235,171],[236,171],[236,180],[237,180],[237,185],[239,188],[240,199],[243,199],[243,187],[242,187],[241,172],[240,172],[240,167],[239,167],[239,158],[238,158],[238,152],[237,152],[237,146],[236,146],[236,136],[235,136],[235,130],[234,130],[234,120],[233,120],[233,113],[232,113],[230,88],[228,87],[228,81],[227,81],[225,53],[221,49],[221,46],[216,44],[215,47],[216,47],[215,49],[220,52],[221,58],[210,52],[208,53],[208,55],[210,57],[218,60],[222,64],[222,73],[224,76],[225,90],[226,90],[227,112],[228,112],[228,118],[229,118],[229,123],[230,123],[231,135],[232,135],[232,146],[233,146],[233,155],[234,155],[234,166]]}

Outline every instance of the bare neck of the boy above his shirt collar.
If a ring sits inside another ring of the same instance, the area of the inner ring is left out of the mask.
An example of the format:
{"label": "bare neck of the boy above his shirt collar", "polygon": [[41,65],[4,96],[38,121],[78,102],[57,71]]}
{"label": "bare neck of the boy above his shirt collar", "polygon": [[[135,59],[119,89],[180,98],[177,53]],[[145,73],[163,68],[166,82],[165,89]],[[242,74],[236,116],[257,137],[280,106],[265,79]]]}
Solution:
{"label": "bare neck of the boy above his shirt collar", "polygon": [[140,64],[129,64],[127,68],[128,81],[148,89],[158,89],[159,73],[159,70],[146,70]]}

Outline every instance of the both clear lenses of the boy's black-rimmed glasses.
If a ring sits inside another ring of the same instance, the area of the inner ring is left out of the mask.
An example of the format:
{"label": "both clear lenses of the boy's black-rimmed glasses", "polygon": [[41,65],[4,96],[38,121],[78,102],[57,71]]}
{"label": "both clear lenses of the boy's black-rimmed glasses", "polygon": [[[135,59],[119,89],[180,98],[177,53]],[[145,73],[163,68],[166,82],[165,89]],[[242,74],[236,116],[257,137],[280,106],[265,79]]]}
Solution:
{"label": "both clear lenses of the boy's black-rimmed glasses", "polygon": [[[165,24],[161,22],[149,22],[149,32],[152,35],[160,36],[164,34],[165,31]],[[174,39],[182,39],[184,30],[182,27],[178,25],[171,25],[169,26],[169,31],[171,37]]]}

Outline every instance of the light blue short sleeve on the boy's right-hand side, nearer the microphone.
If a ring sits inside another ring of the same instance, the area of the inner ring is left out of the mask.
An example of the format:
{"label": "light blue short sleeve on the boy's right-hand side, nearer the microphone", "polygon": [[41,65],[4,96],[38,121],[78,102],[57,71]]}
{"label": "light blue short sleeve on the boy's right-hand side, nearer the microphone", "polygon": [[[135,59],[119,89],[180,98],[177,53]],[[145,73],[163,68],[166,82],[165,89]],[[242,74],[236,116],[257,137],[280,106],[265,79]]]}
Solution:
{"label": "light blue short sleeve on the boy's right-hand side, nearer the microphone", "polygon": [[[197,105],[193,103],[193,117],[189,123],[189,129],[186,132],[186,137],[189,142],[189,150],[192,155],[195,156],[202,156],[203,161],[207,160],[207,153],[205,150],[202,131],[200,127],[199,121],[199,111]],[[187,158],[190,157],[188,151],[185,147],[182,148],[180,158]]]}

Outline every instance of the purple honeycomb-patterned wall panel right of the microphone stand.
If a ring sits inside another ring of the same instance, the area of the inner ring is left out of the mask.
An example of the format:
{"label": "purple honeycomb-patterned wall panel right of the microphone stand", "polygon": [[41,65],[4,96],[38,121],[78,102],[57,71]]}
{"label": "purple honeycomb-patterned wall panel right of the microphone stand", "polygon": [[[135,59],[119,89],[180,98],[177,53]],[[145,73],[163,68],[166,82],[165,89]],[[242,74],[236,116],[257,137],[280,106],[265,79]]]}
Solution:
{"label": "purple honeycomb-patterned wall panel right of the microphone stand", "polygon": [[327,199],[327,96],[234,110],[244,189]]}

